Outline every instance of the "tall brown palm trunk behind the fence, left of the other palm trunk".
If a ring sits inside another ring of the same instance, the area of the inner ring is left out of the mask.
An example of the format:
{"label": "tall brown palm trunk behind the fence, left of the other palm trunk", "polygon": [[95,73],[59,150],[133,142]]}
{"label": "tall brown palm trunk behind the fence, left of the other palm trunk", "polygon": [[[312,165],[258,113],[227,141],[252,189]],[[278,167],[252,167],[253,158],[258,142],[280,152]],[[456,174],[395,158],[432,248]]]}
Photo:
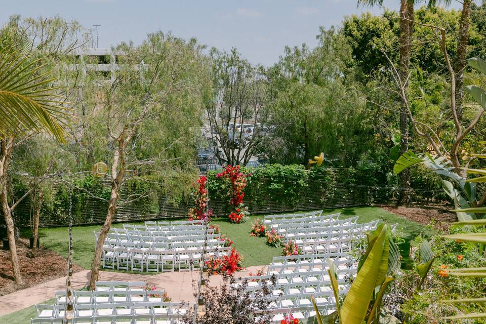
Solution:
{"label": "tall brown palm trunk behind the fence, left of the other palm trunk", "polygon": [[[414,4],[413,1],[401,0],[400,3],[400,62],[398,70],[402,83],[407,79],[410,68],[410,53],[412,50],[412,34],[414,24]],[[404,104],[400,106],[400,155],[409,149],[409,116]],[[400,194],[397,204],[410,205],[408,191],[410,190],[410,172],[403,170],[399,176]]]}

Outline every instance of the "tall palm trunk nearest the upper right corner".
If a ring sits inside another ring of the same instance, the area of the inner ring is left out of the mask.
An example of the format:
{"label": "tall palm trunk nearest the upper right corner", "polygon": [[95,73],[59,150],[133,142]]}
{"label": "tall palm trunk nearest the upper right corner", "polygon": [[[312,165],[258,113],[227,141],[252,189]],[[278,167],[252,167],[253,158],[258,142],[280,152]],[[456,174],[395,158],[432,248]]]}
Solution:
{"label": "tall palm trunk nearest the upper right corner", "polygon": [[456,111],[459,121],[462,120],[464,98],[464,69],[466,67],[467,41],[469,39],[471,0],[464,0],[462,4],[461,20],[459,22],[459,37],[457,39],[457,52],[454,64],[456,71]]}

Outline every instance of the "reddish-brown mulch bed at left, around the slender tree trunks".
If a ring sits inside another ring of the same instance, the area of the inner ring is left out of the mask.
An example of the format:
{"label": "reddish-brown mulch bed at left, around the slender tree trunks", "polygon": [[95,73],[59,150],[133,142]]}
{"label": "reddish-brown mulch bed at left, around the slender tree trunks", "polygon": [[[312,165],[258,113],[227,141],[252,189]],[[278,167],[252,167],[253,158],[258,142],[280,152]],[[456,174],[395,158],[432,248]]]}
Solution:
{"label": "reddish-brown mulch bed at left, around the slender tree trunks", "polygon": [[[19,258],[20,273],[24,284],[17,286],[12,271],[9,251],[0,251],[0,296],[13,293],[17,290],[42,284],[43,282],[65,276],[67,271],[66,259],[50,250],[37,251],[35,258],[30,258],[29,240],[20,238],[17,241],[17,254]],[[83,270],[74,265],[73,271]]]}

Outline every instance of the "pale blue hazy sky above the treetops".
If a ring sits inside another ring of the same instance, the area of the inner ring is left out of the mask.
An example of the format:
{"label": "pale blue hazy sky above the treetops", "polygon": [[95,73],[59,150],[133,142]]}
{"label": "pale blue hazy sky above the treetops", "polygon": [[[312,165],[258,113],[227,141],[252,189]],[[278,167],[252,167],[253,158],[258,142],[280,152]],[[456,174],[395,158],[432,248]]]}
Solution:
{"label": "pale blue hazy sky above the treetops", "polygon": [[[317,45],[319,26],[339,26],[346,15],[383,8],[357,7],[356,0],[0,0],[0,22],[9,16],[51,17],[59,14],[85,28],[98,27],[100,48],[145,38],[149,32],[172,31],[196,37],[209,47],[235,47],[255,64],[272,65],[285,46]],[[398,0],[384,0],[398,9]],[[459,8],[453,2],[453,8]],[[96,36],[95,36],[96,39]]]}

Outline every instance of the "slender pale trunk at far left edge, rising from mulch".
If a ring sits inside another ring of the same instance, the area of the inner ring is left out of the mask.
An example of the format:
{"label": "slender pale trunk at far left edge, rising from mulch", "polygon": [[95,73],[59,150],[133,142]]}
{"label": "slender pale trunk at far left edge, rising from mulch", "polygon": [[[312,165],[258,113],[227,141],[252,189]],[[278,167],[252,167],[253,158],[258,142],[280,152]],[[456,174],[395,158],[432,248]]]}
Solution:
{"label": "slender pale trunk at far left edge, rising from mulch", "polygon": [[10,261],[12,262],[12,270],[14,272],[14,279],[17,285],[22,285],[22,276],[20,275],[19,260],[17,258],[17,246],[15,244],[15,225],[12,218],[12,211],[10,210],[7,192],[7,172],[10,164],[10,157],[15,139],[7,138],[1,141],[2,154],[0,155],[0,204],[2,204],[2,212],[4,213],[5,223],[7,225],[7,237],[10,244]]}

